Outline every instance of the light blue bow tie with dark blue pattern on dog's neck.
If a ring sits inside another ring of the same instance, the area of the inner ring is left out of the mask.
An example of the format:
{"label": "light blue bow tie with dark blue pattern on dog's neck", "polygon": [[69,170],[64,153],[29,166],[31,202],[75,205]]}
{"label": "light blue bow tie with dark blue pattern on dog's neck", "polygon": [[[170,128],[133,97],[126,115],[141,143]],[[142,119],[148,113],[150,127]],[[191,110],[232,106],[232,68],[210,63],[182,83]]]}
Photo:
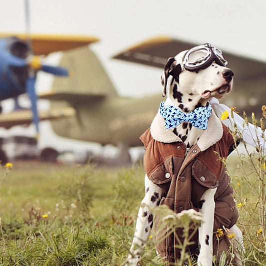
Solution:
{"label": "light blue bow tie with dark blue pattern on dog's neck", "polygon": [[167,107],[164,108],[164,102],[160,104],[160,114],[165,119],[166,128],[176,127],[186,121],[197,128],[206,129],[211,112],[211,105],[207,107],[199,107],[190,113],[185,114],[174,106],[167,105]]}

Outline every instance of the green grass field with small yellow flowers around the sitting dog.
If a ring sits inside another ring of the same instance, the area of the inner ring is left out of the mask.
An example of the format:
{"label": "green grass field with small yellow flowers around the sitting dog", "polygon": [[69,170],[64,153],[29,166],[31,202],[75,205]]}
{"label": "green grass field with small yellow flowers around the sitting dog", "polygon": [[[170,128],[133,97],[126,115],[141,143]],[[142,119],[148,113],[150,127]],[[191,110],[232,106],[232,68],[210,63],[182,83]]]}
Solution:
{"label": "green grass field with small yellow flowers around the sitting dog", "polygon": [[[246,237],[246,265],[266,265],[255,194],[237,159],[228,160],[228,169],[243,210],[240,227]],[[4,177],[5,168],[0,171]],[[14,162],[0,188],[0,265],[120,265],[131,245],[143,183],[141,164],[101,168]],[[254,174],[251,183],[257,185]],[[251,208],[253,215],[248,215]],[[160,265],[151,240],[141,265]]]}

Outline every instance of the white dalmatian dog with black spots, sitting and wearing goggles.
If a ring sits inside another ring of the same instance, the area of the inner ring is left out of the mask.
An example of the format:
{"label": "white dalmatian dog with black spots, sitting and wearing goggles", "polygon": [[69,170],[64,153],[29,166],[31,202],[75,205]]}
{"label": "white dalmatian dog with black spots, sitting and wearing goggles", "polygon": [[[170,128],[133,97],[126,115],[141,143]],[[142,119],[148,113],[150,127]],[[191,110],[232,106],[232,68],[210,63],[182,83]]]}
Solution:
{"label": "white dalmatian dog with black spots, sitting and wearing goggles", "polygon": [[[169,58],[161,76],[163,96],[167,96],[165,106],[169,104],[183,113],[189,113],[198,107],[208,106],[208,101],[212,97],[222,98],[232,90],[234,76],[234,72],[226,67],[226,64],[222,52],[209,43],[182,51],[175,57]],[[196,144],[204,131],[189,122],[183,122],[171,130],[183,141],[187,151]],[[208,189],[200,200],[203,203],[199,209],[203,223],[199,228],[198,266],[212,266],[213,247],[209,243],[213,243],[216,190],[217,188]],[[145,192],[126,266],[140,265],[143,246],[153,226],[153,214],[150,210],[159,205],[163,196],[163,190],[147,175],[145,175]],[[243,241],[242,233],[236,225],[230,231],[236,234],[235,240],[239,243]],[[209,237],[208,242],[206,236]]]}

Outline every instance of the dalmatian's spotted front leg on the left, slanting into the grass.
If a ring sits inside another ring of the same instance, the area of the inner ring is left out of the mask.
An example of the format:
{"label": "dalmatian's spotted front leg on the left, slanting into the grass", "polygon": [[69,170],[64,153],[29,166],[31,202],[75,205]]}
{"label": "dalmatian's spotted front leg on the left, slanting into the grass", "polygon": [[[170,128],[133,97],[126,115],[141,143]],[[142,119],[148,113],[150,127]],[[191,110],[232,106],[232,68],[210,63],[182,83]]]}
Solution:
{"label": "dalmatian's spotted front leg on the left, slanting into the grass", "polygon": [[145,175],[145,197],[139,208],[135,234],[125,266],[139,265],[143,246],[150,236],[153,225],[153,215],[150,209],[156,207],[161,198],[162,189],[152,183]]}

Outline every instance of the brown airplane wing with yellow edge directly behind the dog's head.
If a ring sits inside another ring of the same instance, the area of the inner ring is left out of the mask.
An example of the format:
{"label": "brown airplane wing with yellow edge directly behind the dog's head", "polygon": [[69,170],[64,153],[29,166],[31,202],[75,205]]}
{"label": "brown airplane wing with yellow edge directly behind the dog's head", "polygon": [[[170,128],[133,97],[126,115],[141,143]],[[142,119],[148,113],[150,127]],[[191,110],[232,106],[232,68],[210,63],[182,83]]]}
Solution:
{"label": "brown airplane wing with yellow edge directly behind the dog's head", "polygon": [[[201,43],[181,41],[168,36],[157,36],[125,49],[114,55],[113,58],[163,68],[169,57],[199,44]],[[223,55],[229,62],[229,67],[234,69],[236,82],[237,80],[260,78],[266,75],[266,62],[224,51]]]}

